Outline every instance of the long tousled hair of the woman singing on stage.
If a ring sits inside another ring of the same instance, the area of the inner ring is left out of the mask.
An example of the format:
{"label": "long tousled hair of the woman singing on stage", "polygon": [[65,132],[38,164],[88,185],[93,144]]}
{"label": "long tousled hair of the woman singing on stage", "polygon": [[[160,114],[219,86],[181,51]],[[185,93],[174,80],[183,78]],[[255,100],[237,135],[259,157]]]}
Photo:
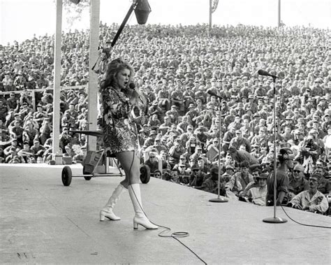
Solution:
{"label": "long tousled hair of the woman singing on stage", "polygon": [[130,79],[134,76],[134,69],[131,64],[124,61],[122,58],[113,59],[107,66],[107,71],[105,71],[105,76],[100,84],[100,92],[103,92],[107,87],[117,87],[117,74],[123,69],[128,69],[130,71]]}

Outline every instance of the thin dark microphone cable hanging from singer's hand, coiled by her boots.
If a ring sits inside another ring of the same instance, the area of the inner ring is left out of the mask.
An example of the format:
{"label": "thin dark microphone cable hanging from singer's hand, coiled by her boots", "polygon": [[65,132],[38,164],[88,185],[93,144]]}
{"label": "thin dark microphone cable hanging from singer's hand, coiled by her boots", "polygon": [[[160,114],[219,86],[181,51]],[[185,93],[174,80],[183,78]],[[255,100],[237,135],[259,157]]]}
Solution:
{"label": "thin dark microphone cable hanging from singer's hand, coiled by her boots", "polygon": [[[137,126],[135,126],[135,128],[137,129]],[[135,136],[135,139],[136,141],[138,141],[138,135],[136,134]],[[130,169],[128,170],[128,185],[131,185],[130,183],[130,173],[131,173],[131,169],[132,169],[132,166],[133,166],[133,162],[134,162],[134,159],[135,159],[135,150],[133,151],[133,157],[132,157],[132,161],[131,161],[131,166],[130,166]],[[135,191],[134,189],[132,189],[133,191],[133,194],[135,195]],[[135,199],[138,201],[137,199],[137,196],[135,195]],[[140,202],[138,201],[139,203],[139,206],[140,206],[140,209],[142,210],[142,213],[144,213],[144,215],[147,217],[147,214],[145,213],[145,210],[142,208]],[[149,218],[147,217],[147,219],[149,220]],[[149,220],[149,222],[151,222],[152,224],[158,226],[158,227],[163,227],[165,228],[165,230],[161,231],[158,236],[160,236],[161,238],[173,238],[175,239],[176,241],[178,241],[179,243],[181,243],[182,245],[184,245],[185,248],[187,248],[189,251],[191,251],[193,253],[193,255],[195,255],[198,259],[200,259],[201,262],[203,262],[203,264],[207,265],[207,262],[205,262],[203,259],[201,259],[198,254],[196,254],[196,252],[194,252],[193,250],[191,250],[191,248],[189,248],[187,245],[185,245],[184,243],[182,243],[182,241],[180,241],[178,238],[184,238],[186,236],[189,236],[189,232],[186,232],[186,231],[178,231],[178,232],[174,232],[172,234],[170,234],[170,236],[165,236],[163,235],[163,233],[165,233],[166,231],[171,231],[171,229],[169,227],[165,227],[161,224],[156,224],[154,222],[152,222],[151,220]]]}

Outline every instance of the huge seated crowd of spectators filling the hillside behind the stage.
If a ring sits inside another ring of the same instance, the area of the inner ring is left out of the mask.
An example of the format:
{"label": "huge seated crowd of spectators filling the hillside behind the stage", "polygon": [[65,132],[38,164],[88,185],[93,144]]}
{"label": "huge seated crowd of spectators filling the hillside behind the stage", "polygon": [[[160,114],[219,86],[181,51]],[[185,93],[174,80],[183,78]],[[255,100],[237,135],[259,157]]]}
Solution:
{"label": "huge seated crowd of spectators filling the hillside behind the stage", "polygon": [[[133,115],[142,116],[140,154],[153,175],[217,193],[220,173],[221,194],[265,205],[258,194],[274,152],[288,148],[295,160],[288,201],[309,189],[312,175],[328,195],[329,29],[238,25],[214,26],[207,34],[207,25],[127,26],[109,54],[107,43],[117,29],[101,23],[98,69],[105,71],[108,57],[133,65],[135,87],[150,104],[147,113]],[[59,137],[64,156],[75,162],[83,159],[87,144],[84,134],[70,131],[88,128],[89,32],[62,38]],[[0,67],[1,163],[50,161],[54,36],[1,45]],[[273,84],[258,76],[258,69],[279,78]]]}

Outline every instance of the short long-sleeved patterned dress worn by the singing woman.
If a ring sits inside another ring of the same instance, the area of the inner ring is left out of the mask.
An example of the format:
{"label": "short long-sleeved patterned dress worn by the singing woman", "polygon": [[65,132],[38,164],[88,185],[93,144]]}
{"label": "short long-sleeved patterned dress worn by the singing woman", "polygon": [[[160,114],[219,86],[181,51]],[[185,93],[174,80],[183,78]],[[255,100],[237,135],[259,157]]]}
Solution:
{"label": "short long-sleeved patterned dress worn by the singing woman", "polygon": [[132,121],[133,108],[128,97],[113,87],[104,89],[102,94],[103,148],[110,157],[118,152],[137,149],[137,127]]}

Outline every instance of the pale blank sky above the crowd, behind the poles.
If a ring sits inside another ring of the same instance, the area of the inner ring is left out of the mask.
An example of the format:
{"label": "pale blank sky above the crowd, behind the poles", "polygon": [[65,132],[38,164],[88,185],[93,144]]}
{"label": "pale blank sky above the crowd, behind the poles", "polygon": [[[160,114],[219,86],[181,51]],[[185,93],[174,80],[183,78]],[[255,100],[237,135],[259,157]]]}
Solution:
{"label": "pale blank sky above the crowd, behind the poles", "polygon": [[[149,0],[152,13],[148,24],[209,23],[209,0]],[[121,24],[131,6],[130,0],[101,0],[100,20]],[[219,0],[212,23],[219,25],[251,24],[275,27],[278,0]],[[56,8],[54,0],[0,0],[0,44],[54,34]],[[66,13],[62,29],[68,31]],[[281,20],[287,26],[331,27],[331,0],[281,0]],[[129,22],[135,24],[133,16]],[[89,27],[89,12],[74,28]]]}

